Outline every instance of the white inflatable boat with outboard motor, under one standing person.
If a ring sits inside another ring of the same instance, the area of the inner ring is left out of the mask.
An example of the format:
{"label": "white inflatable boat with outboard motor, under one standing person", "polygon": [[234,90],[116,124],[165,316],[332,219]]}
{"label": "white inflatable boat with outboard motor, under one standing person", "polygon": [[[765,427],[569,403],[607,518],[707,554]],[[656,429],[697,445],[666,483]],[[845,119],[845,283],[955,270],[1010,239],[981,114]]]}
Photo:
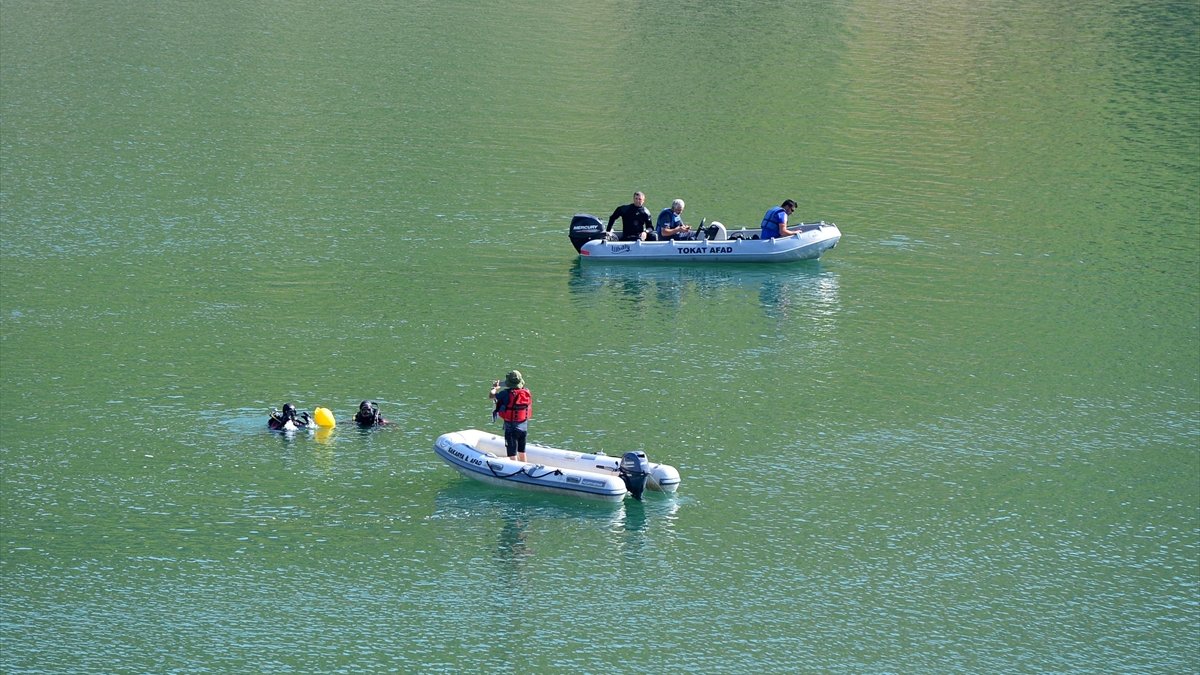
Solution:
{"label": "white inflatable boat with outboard motor, under one standing person", "polygon": [[625,495],[641,500],[646,489],[674,492],[679,488],[679,472],[673,466],[650,462],[642,452],[614,458],[529,443],[527,461],[518,461],[505,456],[503,436],[478,429],[438,436],[433,452],[463,476],[492,485],[612,502]]}

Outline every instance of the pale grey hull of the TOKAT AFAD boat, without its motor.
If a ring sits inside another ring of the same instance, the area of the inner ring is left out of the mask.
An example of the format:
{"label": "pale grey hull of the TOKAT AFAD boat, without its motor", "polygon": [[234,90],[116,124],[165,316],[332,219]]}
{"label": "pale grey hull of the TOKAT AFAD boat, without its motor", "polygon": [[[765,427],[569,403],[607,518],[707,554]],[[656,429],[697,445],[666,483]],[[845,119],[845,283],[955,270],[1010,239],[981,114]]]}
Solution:
{"label": "pale grey hull of the TOKAT AFAD boat, without its motor", "polygon": [[580,247],[586,261],[685,261],[704,263],[786,263],[817,259],[841,240],[828,222],[804,223],[802,232],[776,239],[755,239],[757,231],[739,229],[724,239],[694,241],[607,241],[592,239]]}

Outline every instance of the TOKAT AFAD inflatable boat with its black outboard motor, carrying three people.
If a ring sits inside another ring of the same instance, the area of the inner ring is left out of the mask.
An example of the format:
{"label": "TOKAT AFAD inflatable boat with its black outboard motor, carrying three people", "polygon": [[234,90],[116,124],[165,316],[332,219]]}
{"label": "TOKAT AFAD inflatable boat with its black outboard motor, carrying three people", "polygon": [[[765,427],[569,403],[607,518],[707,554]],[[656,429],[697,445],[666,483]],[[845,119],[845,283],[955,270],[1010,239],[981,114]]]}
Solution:
{"label": "TOKAT AFAD inflatable boat with its black outboard motor, carrying three people", "polygon": [[760,238],[758,228],[726,229],[701,221],[688,241],[614,241],[592,214],[571,219],[571,244],[586,261],[688,261],[706,263],[786,263],[821,257],[838,245],[841,231],[832,222],[804,222],[799,232],[775,239]]}

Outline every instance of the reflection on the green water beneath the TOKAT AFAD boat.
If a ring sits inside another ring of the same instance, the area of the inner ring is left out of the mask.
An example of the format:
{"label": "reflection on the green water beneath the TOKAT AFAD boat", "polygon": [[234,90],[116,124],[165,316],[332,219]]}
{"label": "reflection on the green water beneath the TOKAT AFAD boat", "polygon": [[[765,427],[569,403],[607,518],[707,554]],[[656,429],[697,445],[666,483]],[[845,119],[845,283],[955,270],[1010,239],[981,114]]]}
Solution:
{"label": "reflection on the green water beneath the TOKAT AFAD boat", "polygon": [[757,292],[763,312],[772,318],[792,318],[798,311],[828,317],[838,310],[838,275],[820,261],[784,265],[751,264],[593,264],[576,259],[568,288],[578,301],[602,294],[642,307],[655,303],[678,307],[685,292],[703,299],[724,299]]}

